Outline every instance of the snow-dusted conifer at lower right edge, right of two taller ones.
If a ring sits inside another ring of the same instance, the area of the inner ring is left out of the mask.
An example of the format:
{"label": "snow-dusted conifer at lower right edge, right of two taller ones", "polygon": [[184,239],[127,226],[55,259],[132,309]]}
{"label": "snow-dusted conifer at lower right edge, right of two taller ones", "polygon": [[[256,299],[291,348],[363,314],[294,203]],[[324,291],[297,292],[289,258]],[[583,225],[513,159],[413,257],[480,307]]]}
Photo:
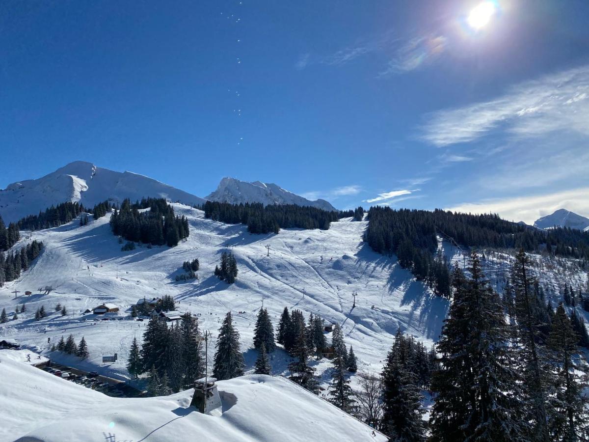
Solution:
{"label": "snow-dusted conifer at lower right edge, right of two taller ones", "polygon": [[548,348],[551,361],[557,370],[555,380],[556,395],[552,401],[554,419],[550,425],[551,440],[586,441],[588,440],[587,397],[583,393],[587,388],[587,377],[580,371],[582,364],[575,364],[578,353],[578,337],[562,303],[558,305],[550,335]]}

